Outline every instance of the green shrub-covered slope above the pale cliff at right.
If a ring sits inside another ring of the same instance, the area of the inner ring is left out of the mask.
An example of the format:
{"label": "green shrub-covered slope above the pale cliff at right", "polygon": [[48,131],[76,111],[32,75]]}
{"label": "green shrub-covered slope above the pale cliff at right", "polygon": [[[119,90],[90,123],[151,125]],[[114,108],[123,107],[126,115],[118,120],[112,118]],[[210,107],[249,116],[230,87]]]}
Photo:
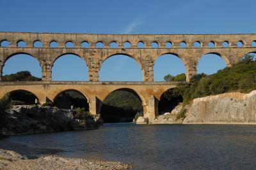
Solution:
{"label": "green shrub-covered slope above the pale cliff at right", "polygon": [[246,55],[241,62],[225,67],[215,74],[197,74],[190,83],[180,83],[173,96],[182,95],[184,103],[197,97],[222,94],[225,92],[251,92],[256,89],[256,60]]}

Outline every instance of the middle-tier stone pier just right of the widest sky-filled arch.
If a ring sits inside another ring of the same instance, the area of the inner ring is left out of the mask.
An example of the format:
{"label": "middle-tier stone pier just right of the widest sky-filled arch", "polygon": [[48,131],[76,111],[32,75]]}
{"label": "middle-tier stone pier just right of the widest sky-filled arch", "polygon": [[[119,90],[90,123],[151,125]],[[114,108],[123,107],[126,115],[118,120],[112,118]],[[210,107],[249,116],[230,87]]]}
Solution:
{"label": "middle-tier stone pier just right of the widest sky-filled arch", "polygon": [[142,64],[143,81],[154,81],[154,62],[145,60]]}

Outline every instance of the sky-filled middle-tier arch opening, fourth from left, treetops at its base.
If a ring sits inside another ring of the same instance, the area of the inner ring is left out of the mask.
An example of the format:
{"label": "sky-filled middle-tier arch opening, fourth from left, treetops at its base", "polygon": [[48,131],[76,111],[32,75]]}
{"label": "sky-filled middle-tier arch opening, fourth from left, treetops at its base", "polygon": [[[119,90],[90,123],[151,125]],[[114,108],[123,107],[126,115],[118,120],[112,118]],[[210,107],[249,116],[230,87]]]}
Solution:
{"label": "sky-filled middle-tier arch opening, fourth from left, treetops at its base", "polygon": [[164,76],[167,74],[172,76],[186,74],[184,61],[180,59],[179,55],[175,53],[163,53],[155,60],[154,81],[164,81]]}

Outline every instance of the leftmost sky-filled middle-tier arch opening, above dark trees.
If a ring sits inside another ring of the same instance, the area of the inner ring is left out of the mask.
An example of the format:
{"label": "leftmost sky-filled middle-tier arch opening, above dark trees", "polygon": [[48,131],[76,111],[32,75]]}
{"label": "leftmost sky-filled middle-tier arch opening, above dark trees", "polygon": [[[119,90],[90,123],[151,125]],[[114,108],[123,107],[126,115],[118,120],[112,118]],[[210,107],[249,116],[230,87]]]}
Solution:
{"label": "leftmost sky-filled middle-tier arch opening, above dark trees", "polygon": [[3,60],[3,66],[0,66],[3,75],[13,74],[19,71],[29,71],[33,76],[41,78],[42,68],[38,59],[24,52],[12,53]]}

